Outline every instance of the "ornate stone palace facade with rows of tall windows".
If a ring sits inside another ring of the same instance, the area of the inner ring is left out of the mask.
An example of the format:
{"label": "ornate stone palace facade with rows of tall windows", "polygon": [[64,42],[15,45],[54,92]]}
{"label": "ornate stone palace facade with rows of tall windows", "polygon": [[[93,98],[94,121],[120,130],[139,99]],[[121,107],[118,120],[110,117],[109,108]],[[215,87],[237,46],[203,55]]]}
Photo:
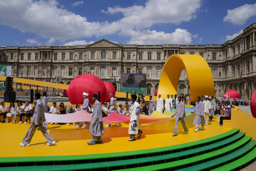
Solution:
{"label": "ornate stone palace facade with rows of tall windows", "polygon": [[[90,45],[2,47],[0,61],[12,66],[13,77],[69,84],[80,74],[93,74],[111,82],[118,91],[120,73],[145,73],[146,93],[153,95],[170,55],[198,54],[211,69],[215,96],[234,89],[241,98],[250,98],[256,89],[255,32],[253,23],[223,45],[122,45],[102,39]],[[56,80],[56,76],[61,76],[61,80]],[[185,78],[183,69],[178,94],[189,94]]]}

